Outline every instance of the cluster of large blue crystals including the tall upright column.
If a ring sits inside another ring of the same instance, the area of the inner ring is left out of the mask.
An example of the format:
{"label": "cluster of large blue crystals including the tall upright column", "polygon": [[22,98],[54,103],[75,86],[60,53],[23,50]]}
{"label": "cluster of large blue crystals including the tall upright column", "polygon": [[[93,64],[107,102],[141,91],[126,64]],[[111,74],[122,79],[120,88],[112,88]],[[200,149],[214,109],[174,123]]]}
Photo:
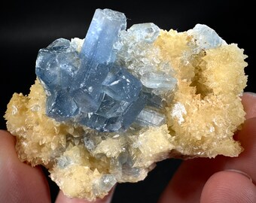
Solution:
{"label": "cluster of large blue crystals including the tall upright column", "polygon": [[[151,24],[139,26],[140,40],[152,43],[157,38],[159,28]],[[79,53],[63,38],[39,50],[36,74],[47,92],[47,116],[99,132],[124,131],[133,122],[142,126],[163,124],[165,117],[157,110],[163,108],[161,98],[151,90],[145,92],[146,87],[142,90],[138,78],[115,64],[114,44],[123,29],[124,14],[96,9]],[[162,81],[160,86],[170,86],[168,78],[158,76],[158,80]],[[149,111],[145,106],[152,108]]]}

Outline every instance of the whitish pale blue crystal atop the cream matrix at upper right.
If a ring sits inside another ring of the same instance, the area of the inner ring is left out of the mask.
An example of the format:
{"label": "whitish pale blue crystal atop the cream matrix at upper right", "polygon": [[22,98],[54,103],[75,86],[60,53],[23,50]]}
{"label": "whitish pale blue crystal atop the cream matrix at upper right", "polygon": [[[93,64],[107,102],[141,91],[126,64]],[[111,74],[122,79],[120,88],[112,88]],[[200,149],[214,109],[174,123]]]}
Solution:
{"label": "whitish pale blue crystal atop the cream matrix at upper right", "polygon": [[194,29],[187,31],[189,35],[192,35],[196,41],[196,44],[201,49],[212,49],[219,47],[222,44],[227,44],[214,29],[209,28],[209,26],[197,24]]}

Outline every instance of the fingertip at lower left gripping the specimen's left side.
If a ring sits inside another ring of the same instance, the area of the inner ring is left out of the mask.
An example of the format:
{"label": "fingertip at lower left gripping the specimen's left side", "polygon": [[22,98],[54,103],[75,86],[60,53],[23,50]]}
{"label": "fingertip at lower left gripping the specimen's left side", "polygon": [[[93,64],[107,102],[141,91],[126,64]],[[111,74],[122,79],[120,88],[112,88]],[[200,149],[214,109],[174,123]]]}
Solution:
{"label": "fingertip at lower left gripping the specimen's left side", "polygon": [[50,202],[50,190],[41,168],[20,162],[14,137],[0,131],[1,202]]}

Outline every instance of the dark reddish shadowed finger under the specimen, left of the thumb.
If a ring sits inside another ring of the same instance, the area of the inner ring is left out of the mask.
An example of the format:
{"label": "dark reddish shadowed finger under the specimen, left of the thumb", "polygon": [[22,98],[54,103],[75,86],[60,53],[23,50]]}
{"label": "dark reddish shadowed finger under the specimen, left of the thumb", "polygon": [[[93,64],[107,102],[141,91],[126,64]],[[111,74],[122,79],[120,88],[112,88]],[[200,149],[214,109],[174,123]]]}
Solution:
{"label": "dark reddish shadowed finger under the specimen, left of the thumb", "polygon": [[184,161],[160,197],[161,203],[199,202],[203,186],[212,174],[219,171],[226,157],[198,158]]}

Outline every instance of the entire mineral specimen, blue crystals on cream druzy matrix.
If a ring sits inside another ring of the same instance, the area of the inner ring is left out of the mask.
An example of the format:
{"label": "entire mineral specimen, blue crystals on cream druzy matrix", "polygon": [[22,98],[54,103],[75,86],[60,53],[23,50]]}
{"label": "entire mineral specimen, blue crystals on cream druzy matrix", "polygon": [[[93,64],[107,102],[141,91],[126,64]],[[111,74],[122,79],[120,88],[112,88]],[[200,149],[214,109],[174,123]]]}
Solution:
{"label": "entire mineral specimen, blue crystals on cream druzy matrix", "polygon": [[168,157],[238,156],[245,58],[206,25],[126,29],[124,14],[97,9],[84,39],[39,50],[7,127],[20,160],[48,168],[66,195],[102,198]]}

